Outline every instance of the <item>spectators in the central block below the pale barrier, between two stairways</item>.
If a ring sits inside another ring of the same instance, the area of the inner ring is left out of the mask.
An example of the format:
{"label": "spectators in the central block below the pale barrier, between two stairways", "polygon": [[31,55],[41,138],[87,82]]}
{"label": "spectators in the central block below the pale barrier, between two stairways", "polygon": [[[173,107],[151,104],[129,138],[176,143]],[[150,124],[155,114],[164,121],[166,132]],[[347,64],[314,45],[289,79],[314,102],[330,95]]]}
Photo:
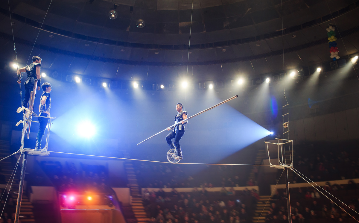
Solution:
{"label": "spectators in the central block below the pale barrier, between two stairways", "polygon": [[256,190],[235,191],[222,188],[208,192],[204,187],[180,193],[176,189],[142,193],[150,222],[156,223],[245,223],[251,222],[259,199]]}

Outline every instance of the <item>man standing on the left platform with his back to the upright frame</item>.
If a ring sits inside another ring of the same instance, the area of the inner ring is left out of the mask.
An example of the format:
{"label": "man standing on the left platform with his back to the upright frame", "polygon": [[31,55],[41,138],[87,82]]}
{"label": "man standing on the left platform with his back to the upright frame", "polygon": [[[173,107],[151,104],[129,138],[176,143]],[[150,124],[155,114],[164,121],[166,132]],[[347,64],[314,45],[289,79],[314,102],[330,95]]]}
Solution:
{"label": "man standing on the left platform with his back to the upright frame", "polygon": [[[39,116],[46,116],[50,117],[50,108],[51,108],[51,98],[50,98],[50,92],[51,92],[51,84],[50,83],[43,83],[41,85],[42,90],[44,93],[41,95],[40,104],[39,104]],[[46,125],[48,122],[47,118],[38,117],[39,119],[39,131],[37,133],[36,137],[36,146],[35,150],[41,150],[41,141],[42,137],[45,134]]]}

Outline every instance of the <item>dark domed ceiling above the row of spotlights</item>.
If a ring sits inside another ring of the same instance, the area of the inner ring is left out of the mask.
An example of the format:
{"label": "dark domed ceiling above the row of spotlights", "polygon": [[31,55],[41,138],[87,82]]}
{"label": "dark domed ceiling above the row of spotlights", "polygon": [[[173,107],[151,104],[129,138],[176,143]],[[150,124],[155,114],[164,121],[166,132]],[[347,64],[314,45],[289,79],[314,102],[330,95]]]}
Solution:
{"label": "dark domed ceiling above the row of spotlights", "polygon": [[[283,71],[283,48],[284,70],[297,69],[331,60],[330,24],[339,31],[342,57],[359,49],[354,0],[194,0],[193,12],[192,0],[49,4],[10,1],[15,46],[25,64],[36,40],[32,55],[43,58],[43,69],[63,74],[171,82],[186,73],[188,60],[194,80],[234,79]],[[0,20],[1,57],[13,61],[7,3],[0,5]]]}

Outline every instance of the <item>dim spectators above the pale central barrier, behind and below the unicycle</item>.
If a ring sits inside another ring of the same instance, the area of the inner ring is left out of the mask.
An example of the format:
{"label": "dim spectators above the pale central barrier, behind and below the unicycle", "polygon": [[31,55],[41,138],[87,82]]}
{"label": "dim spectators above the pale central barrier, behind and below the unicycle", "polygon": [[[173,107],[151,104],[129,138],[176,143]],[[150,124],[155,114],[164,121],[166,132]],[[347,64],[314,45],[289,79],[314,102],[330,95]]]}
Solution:
{"label": "dim spectators above the pale central barrier, behind and below the unicycle", "polygon": [[140,187],[180,188],[180,187],[238,187],[254,186],[255,182],[245,180],[246,175],[238,175],[238,166],[216,165],[201,170],[201,176],[191,176],[178,165],[141,163],[135,166]]}

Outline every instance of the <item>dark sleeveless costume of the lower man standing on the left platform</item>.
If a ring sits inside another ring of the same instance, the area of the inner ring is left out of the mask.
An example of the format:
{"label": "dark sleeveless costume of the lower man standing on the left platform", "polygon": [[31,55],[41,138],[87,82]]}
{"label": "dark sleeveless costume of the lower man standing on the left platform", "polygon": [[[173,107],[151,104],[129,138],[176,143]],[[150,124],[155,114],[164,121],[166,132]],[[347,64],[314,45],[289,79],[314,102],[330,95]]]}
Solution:
{"label": "dark sleeveless costume of the lower man standing on the left platform", "polygon": [[[46,102],[43,105],[41,105],[42,96],[46,96]],[[44,93],[42,93],[41,98],[40,98],[40,111],[41,112],[40,112],[39,116],[50,117],[50,108],[51,108],[50,93],[44,92]],[[45,112],[48,112],[48,114]],[[39,120],[40,126],[39,126],[39,131],[38,131],[37,137],[36,137],[35,150],[41,150],[41,141],[42,141],[42,137],[45,134],[46,125],[48,122],[47,118],[38,117],[38,120]]]}

